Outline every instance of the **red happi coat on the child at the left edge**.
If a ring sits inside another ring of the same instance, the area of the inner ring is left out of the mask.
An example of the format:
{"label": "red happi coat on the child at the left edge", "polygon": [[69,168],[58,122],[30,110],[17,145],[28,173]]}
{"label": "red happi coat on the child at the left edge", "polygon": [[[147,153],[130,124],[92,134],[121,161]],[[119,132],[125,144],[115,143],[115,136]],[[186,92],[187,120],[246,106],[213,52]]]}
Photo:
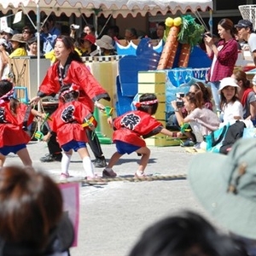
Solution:
{"label": "red happi coat on the child at the left edge", "polygon": [[26,118],[27,108],[26,104],[20,103],[17,114],[14,115],[10,111],[9,102],[0,104],[0,148],[29,143],[31,137],[22,130],[25,119],[27,119],[27,125],[32,124],[33,115],[30,111]]}

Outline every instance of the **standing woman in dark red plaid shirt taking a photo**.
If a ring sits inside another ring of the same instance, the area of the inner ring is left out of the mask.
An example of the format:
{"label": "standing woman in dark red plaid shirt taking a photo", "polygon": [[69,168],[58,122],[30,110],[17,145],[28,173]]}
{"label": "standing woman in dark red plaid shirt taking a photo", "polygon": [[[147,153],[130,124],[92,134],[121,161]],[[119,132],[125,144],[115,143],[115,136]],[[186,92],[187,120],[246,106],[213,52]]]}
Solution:
{"label": "standing woman in dark red plaid shirt taking a photo", "polygon": [[238,47],[235,36],[235,26],[230,19],[222,19],[218,22],[218,34],[220,40],[214,44],[212,37],[204,37],[207,48],[207,55],[212,59],[212,66],[207,74],[207,82],[210,82],[212,96],[217,112],[220,110],[220,99],[218,88],[221,79],[230,77],[233,73],[237,56]]}

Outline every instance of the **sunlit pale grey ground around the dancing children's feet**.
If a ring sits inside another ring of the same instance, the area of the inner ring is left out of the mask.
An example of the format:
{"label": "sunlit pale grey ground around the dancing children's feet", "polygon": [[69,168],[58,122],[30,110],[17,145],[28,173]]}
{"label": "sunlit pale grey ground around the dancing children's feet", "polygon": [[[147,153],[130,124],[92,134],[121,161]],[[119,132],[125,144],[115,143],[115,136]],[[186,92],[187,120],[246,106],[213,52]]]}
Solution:
{"label": "sunlit pale grey ground around the dancing children's feet", "polygon": [[[102,145],[107,160],[114,149],[114,145]],[[28,150],[35,167],[44,169],[55,178],[59,177],[60,162],[39,161],[40,156],[48,153],[45,143],[29,143]],[[152,147],[147,174],[186,174],[193,156],[179,146]],[[121,177],[133,177],[137,160],[137,154],[126,155],[114,170]],[[15,155],[9,155],[6,164],[11,163],[20,163],[20,160]],[[84,177],[78,154],[73,154],[70,173],[74,177]],[[97,168],[96,173],[101,174],[102,169]],[[186,179],[80,185],[79,193],[79,246],[72,249],[73,256],[125,256],[142,231],[154,221],[183,209],[206,214],[195,201]]]}

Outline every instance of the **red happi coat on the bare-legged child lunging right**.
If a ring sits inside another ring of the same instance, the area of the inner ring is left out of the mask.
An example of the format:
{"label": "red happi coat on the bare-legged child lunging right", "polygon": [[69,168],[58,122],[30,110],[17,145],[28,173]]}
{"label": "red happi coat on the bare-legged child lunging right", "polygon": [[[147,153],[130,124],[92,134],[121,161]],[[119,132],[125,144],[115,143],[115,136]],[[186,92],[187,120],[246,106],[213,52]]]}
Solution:
{"label": "red happi coat on the bare-legged child lunging right", "polygon": [[[158,134],[163,125],[149,113],[131,111],[113,120],[113,142],[122,141],[138,147],[145,147],[143,138]],[[143,138],[142,138],[143,137]]]}

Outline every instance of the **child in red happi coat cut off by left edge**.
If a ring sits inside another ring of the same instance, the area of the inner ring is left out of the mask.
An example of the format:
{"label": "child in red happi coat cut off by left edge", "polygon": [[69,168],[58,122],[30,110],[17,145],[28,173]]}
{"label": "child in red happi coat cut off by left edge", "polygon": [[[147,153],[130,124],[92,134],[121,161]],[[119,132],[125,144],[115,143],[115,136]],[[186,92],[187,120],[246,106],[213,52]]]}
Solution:
{"label": "child in red happi coat cut off by left edge", "polygon": [[32,166],[32,160],[26,148],[31,137],[26,133],[32,124],[33,115],[44,117],[35,109],[20,103],[14,98],[13,84],[9,80],[0,81],[0,167],[3,167],[6,155],[18,154],[24,166]]}

